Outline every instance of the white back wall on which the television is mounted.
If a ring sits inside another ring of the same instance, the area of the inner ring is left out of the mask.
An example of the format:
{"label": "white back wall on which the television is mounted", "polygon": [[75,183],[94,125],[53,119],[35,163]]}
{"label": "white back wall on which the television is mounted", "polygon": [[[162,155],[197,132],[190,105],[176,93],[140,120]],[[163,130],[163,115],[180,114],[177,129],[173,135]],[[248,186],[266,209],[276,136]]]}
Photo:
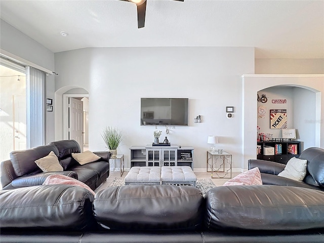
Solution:
{"label": "white back wall on which the television is mounted", "polygon": [[[88,48],[56,53],[55,67],[57,102],[67,89],[89,91],[90,150],[105,150],[100,133],[116,126],[123,131],[118,153],[129,168],[129,147],[154,139],[155,127],[140,126],[140,98],[184,97],[189,126],[169,128],[169,141],[193,146],[194,169],[205,171],[207,137],[218,135],[218,146],[233,154],[233,168],[240,170],[241,74],[254,72],[254,48]],[[235,107],[232,119],[225,116],[226,106]],[[197,115],[200,124],[193,123]],[[60,139],[61,117],[56,118]],[[158,130],[166,136],[164,127]]]}

